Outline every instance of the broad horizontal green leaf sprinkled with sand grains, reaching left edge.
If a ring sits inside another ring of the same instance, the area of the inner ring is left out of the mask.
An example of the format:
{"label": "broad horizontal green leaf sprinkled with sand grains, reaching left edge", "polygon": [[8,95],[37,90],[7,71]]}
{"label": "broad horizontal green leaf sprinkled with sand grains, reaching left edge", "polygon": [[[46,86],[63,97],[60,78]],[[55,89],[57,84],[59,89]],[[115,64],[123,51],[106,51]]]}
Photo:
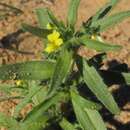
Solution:
{"label": "broad horizontal green leaf sprinkled with sand grains, reaching left edge", "polygon": [[55,63],[51,61],[30,61],[0,67],[1,80],[47,80],[54,71]]}

